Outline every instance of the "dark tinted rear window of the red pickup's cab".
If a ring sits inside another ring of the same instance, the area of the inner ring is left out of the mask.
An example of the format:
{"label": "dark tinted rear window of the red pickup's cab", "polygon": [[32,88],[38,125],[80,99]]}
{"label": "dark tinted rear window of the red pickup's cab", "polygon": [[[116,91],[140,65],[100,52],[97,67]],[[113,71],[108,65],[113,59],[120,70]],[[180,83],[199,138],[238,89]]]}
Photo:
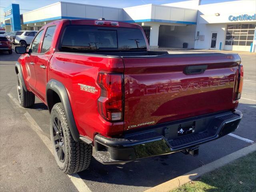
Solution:
{"label": "dark tinted rear window of the red pickup's cab", "polygon": [[145,38],[140,29],[68,26],[62,38],[62,50],[146,50]]}

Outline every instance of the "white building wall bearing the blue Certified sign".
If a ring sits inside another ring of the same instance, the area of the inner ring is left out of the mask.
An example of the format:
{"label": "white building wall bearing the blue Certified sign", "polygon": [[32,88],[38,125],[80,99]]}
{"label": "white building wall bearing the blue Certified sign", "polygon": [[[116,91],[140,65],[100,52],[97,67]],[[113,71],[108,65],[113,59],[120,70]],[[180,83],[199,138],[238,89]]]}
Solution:
{"label": "white building wall bearing the blue Certified sign", "polygon": [[[255,20],[247,21],[229,21],[228,17],[239,16],[241,14],[253,15],[256,12],[255,0],[240,0],[232,2],[223,2],[215,4],[206,4],[198,6],[196,31],[204,36],[204,40],[196,40],[194,48],[209,49],[211,43],[211,33],[217,32],[216,48],[225,50],[244,50],[249,51],[250,46],[225,46],[226,27],[228,24],[255,23]],[[215,14],[220,14],[216,16]]]}

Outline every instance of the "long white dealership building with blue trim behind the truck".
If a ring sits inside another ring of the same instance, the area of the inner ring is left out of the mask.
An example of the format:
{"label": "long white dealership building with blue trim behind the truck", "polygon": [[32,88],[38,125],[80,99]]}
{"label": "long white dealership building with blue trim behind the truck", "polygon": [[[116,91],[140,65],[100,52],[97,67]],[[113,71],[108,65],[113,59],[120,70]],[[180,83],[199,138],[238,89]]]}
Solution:
{"label": "long white dealership building with blue trim behind the truck", "polygon": [[114,8],[57,2],[20,14],[18,4],[4,8],[6,31],[39,30],[59,19],[98,19],[137,23],[150,48],[195,48],[256,52],[256,1],[200,5],[200,0]]}

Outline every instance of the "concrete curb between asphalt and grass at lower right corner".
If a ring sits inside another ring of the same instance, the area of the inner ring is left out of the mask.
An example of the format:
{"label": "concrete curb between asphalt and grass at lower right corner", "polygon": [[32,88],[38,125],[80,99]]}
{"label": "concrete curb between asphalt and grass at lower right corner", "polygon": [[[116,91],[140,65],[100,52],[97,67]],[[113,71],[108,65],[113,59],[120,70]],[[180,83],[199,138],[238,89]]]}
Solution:
{"label": "concrete curb between asphalt and grass at lower right corner", "polygon": [[182,176],[176,177],[170,181],[164,182],[158,186],[150,188],[145,192],[169,192],[172,189],[178,188],[179,186],[186,184],[196,178],[211,172],[217,168],[220,168],[242,156],[246,156],[247,154],[256,151],[256,144],[252,144],[248,147],[242,148],[234,153],[231,153],[227,156],[224,156],[216,161],[213,161],[205,166],[199,167],[195,170],[192,170]]}

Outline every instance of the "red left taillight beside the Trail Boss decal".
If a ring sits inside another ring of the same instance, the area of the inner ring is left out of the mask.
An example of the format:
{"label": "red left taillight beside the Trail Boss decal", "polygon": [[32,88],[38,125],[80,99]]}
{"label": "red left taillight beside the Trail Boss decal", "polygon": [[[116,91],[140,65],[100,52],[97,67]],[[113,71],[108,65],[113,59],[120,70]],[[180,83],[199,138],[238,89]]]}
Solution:
{"label": "red left taillight beside the Trail Boss decal", "polygon": [[98,84],[101,88],[98,110],[107,121],[122,121],[122,80],[122,74],[99,73],[98,75]]}

